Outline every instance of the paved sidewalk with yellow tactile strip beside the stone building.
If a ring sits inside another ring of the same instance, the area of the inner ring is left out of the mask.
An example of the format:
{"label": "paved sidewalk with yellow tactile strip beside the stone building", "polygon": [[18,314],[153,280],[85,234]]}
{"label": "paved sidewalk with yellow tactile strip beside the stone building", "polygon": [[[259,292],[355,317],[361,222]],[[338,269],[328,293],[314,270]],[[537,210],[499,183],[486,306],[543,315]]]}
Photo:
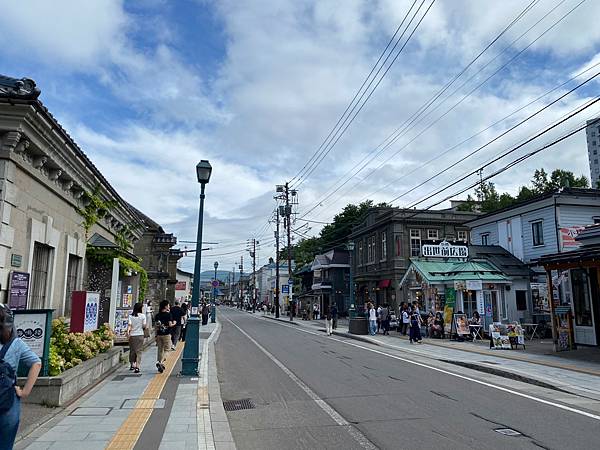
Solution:
{"label": "paved sidewalk with yellow tactile strip beside the stone building", "polygon": [[162,374],[151,346],[140,374],[124,365],[15,449],[234,449],[214,358],[219,332],[219,324],[200,328],[198,377],[179,377],[183,342],[169,353]]}

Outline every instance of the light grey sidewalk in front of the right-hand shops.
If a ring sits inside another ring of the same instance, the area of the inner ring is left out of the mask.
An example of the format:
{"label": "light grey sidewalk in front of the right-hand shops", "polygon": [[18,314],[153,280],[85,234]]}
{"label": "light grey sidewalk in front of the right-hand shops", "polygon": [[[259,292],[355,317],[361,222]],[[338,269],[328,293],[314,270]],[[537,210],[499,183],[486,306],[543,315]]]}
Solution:
{"label": "light grey sidewalk in front of the right-hand shops", "polygon": [[[289,317],[267,318],[290,323]],[[293,323],[313,330],[325,330],[323,320],[295,319]],[[493,350],[489,349],[488,341],[473,343],[424,338],[422,344],[410,344],[407,337],[396,331],[390,331],[389,336],[369,336],[350,334],[347,329],[348,321],[340,320],[334,334],[600,400],[598,349],[584,349],[585,360],[581,360],[574,353],[569,357],[569,352],[560,356],[545,354],[552,348],[551,345],[548,348],[548,341],[533,345],[527,341],[525,351]]]}

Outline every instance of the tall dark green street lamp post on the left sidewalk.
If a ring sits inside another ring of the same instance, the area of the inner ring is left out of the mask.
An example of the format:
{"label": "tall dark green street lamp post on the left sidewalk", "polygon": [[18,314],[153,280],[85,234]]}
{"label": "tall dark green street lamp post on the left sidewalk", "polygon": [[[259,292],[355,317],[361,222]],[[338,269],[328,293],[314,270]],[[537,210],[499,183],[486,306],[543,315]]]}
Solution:
{"label": "tall dark green street lamp post on the left sidewalk", "polygon": [[202,222],[204,219],[204,188],[210,181],[212,166],[202,160],[196,166],[196,176],[200,183],[200,211],[198,213],[198,236],[196,238],[196,261],[194,263],[194,286],[192,288],[192,314],[187,323],[185,347],[181,358],[181,375],[198,376],[200,351],[200,270],[202,260]]}

